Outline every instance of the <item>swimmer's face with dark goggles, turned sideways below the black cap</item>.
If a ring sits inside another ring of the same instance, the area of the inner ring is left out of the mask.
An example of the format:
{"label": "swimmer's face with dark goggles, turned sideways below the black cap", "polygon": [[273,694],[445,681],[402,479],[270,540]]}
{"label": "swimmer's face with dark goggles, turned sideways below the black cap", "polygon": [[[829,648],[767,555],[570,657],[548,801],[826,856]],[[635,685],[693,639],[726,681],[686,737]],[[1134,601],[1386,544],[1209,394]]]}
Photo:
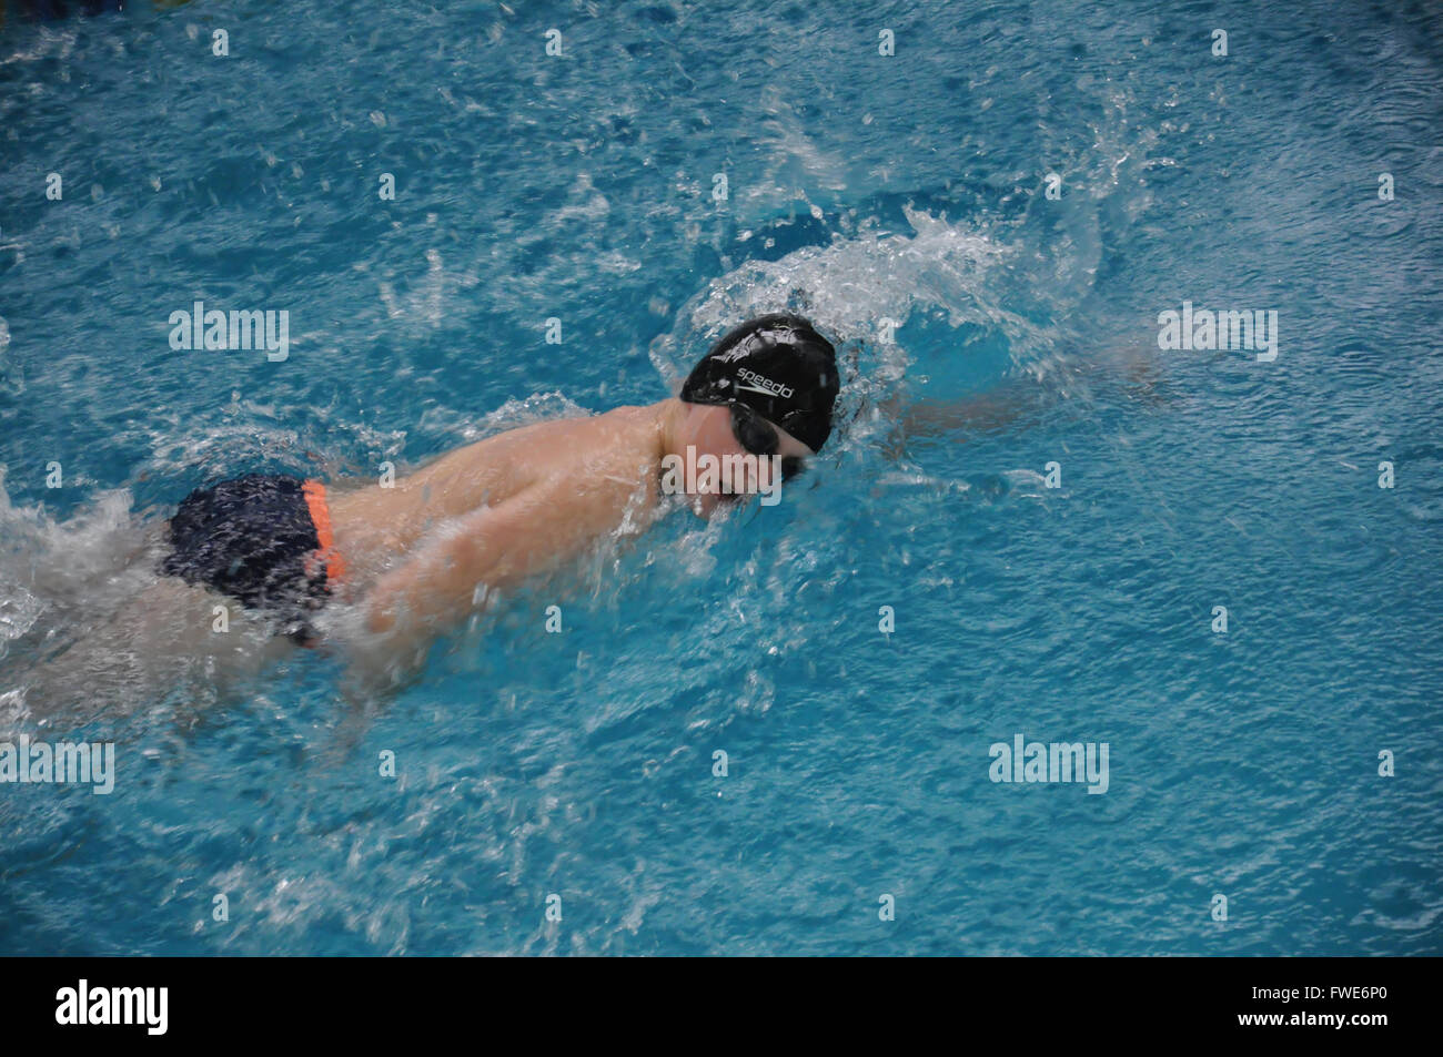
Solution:
{"label": "swimmer's face with dark goggles, turned sideways below the black cap", "polygon": [[[687,496],[691,509],[703,518],[710,518],[717,509],[743,500],[749,495],[776,495],[782,480],[801,473],[804,460],[814,454],[786,430],[747,407],[687,404],[685,408],[687,414],[678,433],[681,451],[677,454],[685,460],[687,447],[696,450],[697,480],[683,483],[697,486],[696,490],[688,490]],[[713,474],[710,482],[704,479],[703,456],[713,456],[717,466],[733,467],[730,492],[722,474]],[[734,461],[727,463],[729,459]]]}

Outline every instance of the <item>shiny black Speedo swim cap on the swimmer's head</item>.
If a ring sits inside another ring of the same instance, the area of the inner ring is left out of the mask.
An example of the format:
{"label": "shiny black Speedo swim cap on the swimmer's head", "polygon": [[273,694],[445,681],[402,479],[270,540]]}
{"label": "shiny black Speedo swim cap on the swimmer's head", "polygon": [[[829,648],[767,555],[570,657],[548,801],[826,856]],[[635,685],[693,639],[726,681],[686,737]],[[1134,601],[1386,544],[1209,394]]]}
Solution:
{"label": "shiny black Speedo swim cap on the swimmer's head", "polygon": [[681,386],[688,404],[745,404],[812,451],[831,435],[837,350],[801,316],[772,313],[727,332]]}

